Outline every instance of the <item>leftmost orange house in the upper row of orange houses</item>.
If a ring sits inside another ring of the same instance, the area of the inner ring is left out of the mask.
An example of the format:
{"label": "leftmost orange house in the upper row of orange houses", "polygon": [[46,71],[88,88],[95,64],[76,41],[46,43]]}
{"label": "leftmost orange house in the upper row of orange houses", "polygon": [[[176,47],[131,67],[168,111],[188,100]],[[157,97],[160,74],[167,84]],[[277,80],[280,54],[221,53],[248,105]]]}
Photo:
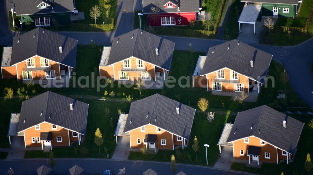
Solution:
{"label": "leftmost orange house in the upper row of orange houses", "polygon": [[13,39],[3,47],[2,78],[21,80],[70,78],[75,68],[77,40],[36,28]]}

